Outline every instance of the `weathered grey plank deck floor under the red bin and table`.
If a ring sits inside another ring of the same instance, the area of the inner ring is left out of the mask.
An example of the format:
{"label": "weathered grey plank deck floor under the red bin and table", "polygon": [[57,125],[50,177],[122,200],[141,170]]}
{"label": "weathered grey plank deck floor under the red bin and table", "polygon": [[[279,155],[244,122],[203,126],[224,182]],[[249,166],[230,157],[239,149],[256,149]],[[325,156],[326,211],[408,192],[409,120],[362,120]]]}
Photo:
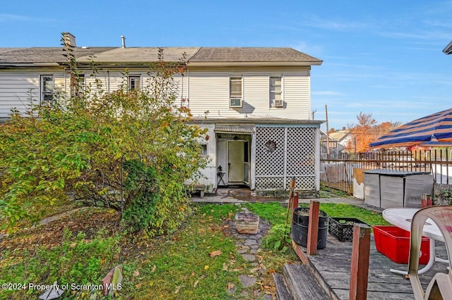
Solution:
{"label": "weathered grey plank deck floor under the red bin and table", "polygon": [[[302,247],[300,249],[305,250]],[[323,288],[329,289],[328,294],[332,299],[349,299],[351,254],[351,242],[339,242],[328,234],[326,248],[318,250],[316,256],[308,256],[311,271],[316,273]],[[447,258],[444,243],[436,242],[436,255]],[[434,273],[448,273],[447,266],[446,263],[436,262],[429,272],[420,275],[424,289]],[[410,280],[391,273],[391,268],[406,270],[408,265],[394,263],[376,251],[374,236],[371,235],[367,299],[414,299]]]}

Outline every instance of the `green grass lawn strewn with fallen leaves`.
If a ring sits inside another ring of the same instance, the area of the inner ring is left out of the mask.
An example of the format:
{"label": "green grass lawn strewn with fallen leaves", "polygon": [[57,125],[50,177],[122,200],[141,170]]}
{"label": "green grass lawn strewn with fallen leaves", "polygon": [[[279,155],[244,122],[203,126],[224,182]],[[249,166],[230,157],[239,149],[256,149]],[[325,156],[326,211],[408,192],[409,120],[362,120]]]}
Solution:
{"label": "green grass lawn strewn with fallen leaves", "polygon": [[[273,226],[284,225],[287,209],[278,203],[244,204]],[[114,211],[87,208],[47,225],[0,239],[0,284],[98,285],[114,265],[123,265],[123,285],[115,299],[262,299],[273,294],[271,274],[299,262],[291,249],[259,249],[257,263],[244,261],[232,235],[234,204],[196,206],[172,235],[131,237],[119,230]],[[386,224],[381,214],[347,204],[321,204],[330,216]],[[264,272],[256,273],[257,270]],[[242,287],[239,275],[257,278]],[[228,292],[229,290],[229,292]],[[254,296],[258,292],[261,296]],[[3,290],[0,299],[36,299],[42,292]],[[102,299],[100,292],[97,299]],[[59,299],[89,299],[90,291],[66,291]],[[108,299],[108,298],[107,298]]]}

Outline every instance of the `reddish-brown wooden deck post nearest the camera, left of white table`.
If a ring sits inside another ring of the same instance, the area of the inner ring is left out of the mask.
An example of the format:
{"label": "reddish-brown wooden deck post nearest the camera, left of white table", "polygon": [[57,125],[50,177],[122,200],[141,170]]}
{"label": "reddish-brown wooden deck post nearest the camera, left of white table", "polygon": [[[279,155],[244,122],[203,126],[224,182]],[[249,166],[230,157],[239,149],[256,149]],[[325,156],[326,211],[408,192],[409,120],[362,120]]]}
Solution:
{"label": "reddish-brown wooden deck post nearest the camera, left of white table", "polygon": [[352,265],[350,268],[350,300],[367,299],[369,276],[370,227],[353,225]]}

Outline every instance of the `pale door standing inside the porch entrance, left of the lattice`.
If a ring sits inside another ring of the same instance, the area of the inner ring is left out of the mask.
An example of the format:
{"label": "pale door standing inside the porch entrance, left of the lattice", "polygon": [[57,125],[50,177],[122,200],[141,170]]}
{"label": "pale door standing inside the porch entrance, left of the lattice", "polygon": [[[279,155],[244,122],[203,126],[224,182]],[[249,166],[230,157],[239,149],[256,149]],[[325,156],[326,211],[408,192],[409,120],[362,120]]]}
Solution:
{"label": "pale door standing inside the porch entrance, left of the lattice", "polygon": [[244,141],[227,141],[227,182],[243,183]]}

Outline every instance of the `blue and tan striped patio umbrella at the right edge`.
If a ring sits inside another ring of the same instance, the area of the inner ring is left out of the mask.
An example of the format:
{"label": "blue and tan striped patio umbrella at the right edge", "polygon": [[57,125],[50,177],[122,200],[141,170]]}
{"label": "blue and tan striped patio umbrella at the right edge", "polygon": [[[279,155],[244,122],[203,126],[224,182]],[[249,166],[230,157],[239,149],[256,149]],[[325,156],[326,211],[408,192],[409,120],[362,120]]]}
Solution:
{"label": "blue and tan striped patio umbrella at the right edge", "polygon": [[371,148],[452,146],[452,108],[406,123],[371,142]]}

